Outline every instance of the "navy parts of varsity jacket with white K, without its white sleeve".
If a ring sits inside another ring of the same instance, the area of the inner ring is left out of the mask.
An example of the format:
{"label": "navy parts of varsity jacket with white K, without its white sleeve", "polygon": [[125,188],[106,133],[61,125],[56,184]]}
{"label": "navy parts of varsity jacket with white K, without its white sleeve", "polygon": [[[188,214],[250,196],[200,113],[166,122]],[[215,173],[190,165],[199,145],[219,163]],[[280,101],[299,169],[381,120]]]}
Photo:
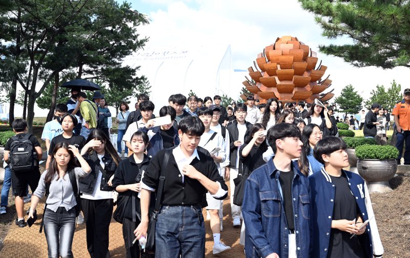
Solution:
{"label": "navy parts of varsity jacket with white K, without its white sleeve", "polygon": [[[353,196],[355,196],[360,216],[363,221],[366,221],[368,219],[368,213],[366,209],[365,187],[367,186],[359,175],[345,170],[342,170],[342,173],[346,175],[349,188]],[[332,178],[326,173],[326,170],[324,170],[324,167],[322,167],[319,173],[314,173],[310,176],[309,182],[311,185],[312,215],[314,218],[312,220],[312,231],[313,238],[315,239],[313,242],[312,257],[326,258],[330,244],[333,200],[336,192],[335,185],[332,183]],[[365,233],[358,235],[358,238],[366,257],[373,257],[370,224],[367,224]]]}

